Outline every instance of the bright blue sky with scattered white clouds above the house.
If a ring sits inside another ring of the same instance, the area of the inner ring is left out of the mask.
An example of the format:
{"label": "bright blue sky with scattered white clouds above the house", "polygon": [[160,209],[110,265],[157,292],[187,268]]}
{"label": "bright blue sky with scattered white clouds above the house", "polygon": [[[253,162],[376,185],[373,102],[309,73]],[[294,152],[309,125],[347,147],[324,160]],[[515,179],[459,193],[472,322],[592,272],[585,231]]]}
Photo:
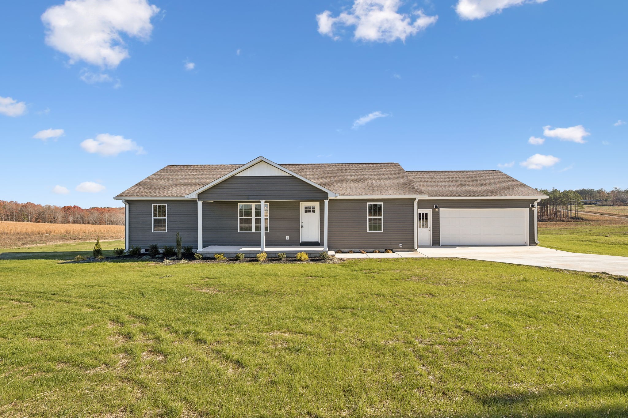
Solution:
{"label": "bright blue sky with scattered white clouds above the house", "polygon": [[577,0],[3,2],[0,199],[119,206],[165,165],[259,155],[625,188],[627,14]]}

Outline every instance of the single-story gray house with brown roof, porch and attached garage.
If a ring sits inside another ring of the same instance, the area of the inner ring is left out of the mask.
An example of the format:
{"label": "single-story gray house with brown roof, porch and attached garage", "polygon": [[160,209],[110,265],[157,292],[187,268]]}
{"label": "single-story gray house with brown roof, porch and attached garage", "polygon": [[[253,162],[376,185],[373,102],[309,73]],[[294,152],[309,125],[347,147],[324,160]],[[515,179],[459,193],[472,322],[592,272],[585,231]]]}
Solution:
{"label": "single-story gray house with brown roof, porch and attached garage", "polygon": [[320,253],[536,245],[539,191],[498,170],[406,171],[397,163],[168,165],[115,199],[126,247]]}

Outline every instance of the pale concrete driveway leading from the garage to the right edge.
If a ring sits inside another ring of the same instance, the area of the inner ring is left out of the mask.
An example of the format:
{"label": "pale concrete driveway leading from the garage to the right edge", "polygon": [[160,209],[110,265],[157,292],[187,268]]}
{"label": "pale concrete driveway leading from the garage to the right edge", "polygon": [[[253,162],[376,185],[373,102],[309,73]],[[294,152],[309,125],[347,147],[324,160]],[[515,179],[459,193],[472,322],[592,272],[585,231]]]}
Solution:
{"label": "pale concrete driveway leading from the garage to the right edge", "polygon": [[600,256],[598,254],[568,253],[544,247],[423,247],[418,252],[428,257],[457,257],[526,266],[552,267],[567,270],[605,271],[628,276],[628,257]]}

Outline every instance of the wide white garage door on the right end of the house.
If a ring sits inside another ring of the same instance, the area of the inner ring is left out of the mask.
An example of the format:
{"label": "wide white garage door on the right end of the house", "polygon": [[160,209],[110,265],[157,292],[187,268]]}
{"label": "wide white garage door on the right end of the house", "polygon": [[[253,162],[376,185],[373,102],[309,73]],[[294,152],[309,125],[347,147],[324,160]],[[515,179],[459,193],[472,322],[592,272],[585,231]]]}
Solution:
{"label": "wide white garage door on the right end of the house", "polygon": [[441,245],[528,245],[528,209],[440,209]]}

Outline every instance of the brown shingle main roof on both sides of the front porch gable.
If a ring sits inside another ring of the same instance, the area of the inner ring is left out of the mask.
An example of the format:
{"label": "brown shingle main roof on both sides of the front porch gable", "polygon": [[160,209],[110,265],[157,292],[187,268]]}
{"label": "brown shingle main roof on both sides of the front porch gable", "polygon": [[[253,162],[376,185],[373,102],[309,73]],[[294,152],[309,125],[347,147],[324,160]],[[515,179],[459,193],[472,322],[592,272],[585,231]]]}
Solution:
{"label": "brown shingle main roof on both sides of the front porch gable", "polygon": [[[117,197],[183,197],[242,165],[168,165]],[[417,195],[420,189],[397,163],[283,164],[342,195]]]}

